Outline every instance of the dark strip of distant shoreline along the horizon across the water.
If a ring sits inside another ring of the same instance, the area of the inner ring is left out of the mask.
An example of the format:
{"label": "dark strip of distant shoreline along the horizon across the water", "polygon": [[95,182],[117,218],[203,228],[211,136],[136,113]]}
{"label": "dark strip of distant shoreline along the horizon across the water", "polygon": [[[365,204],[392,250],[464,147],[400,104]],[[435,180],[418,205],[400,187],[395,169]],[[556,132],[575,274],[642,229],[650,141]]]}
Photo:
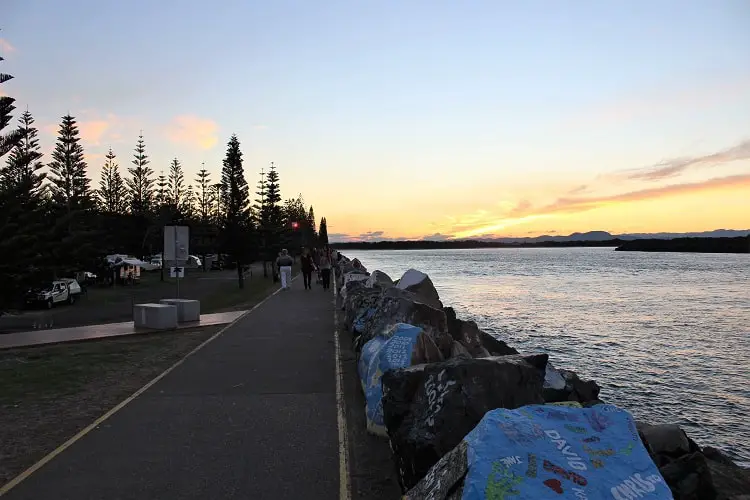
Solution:
{"label": "dark strip of distant shoreline along the horizon across the water", "polygon": [[474,248],[613,248],[623,252],[750,253],[750,236],[734,238],[636,239],[614,238],[602,241],[540,241],[506,243],[499,241],[400,240],[348,241],[331,243],[337,250],[463,250]]}

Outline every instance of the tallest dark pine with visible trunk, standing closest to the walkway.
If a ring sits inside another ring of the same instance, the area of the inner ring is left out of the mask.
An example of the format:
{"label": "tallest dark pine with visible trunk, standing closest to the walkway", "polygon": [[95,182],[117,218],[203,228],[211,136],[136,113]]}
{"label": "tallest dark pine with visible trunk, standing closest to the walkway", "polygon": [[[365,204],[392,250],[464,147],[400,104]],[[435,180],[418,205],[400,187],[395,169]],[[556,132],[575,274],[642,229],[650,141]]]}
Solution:
{"label": "tallest dark pine with visible trunk, standing closest to the walkway", "polygon": [[249,189],[242,168],[240,141],[232,135],[227,144],[227,155],[221,170],[221,198],[224,205],[223,242],[237,263],[237,279],[244,288],[243,261],[247,254],[250,231]]}

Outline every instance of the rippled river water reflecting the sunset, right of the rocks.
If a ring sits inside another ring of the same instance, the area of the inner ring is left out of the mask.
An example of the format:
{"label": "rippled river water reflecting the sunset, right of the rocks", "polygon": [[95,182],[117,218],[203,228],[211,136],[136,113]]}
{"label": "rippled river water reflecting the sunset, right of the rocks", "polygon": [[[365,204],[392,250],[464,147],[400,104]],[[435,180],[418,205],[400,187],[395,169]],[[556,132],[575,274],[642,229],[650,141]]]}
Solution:
{"label": "rippled river water reflecting the sunset, right of the rocks", "polygon": [[393,279],[413,267],[445,305],[601,398],[750,465],[750,255],[611,248],[346,251]]}

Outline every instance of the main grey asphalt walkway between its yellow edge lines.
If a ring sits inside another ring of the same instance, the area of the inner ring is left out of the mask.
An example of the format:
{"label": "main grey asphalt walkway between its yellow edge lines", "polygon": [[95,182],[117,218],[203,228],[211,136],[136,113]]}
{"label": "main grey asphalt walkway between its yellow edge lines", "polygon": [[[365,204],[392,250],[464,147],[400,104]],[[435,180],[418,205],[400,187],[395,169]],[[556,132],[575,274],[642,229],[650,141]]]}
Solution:
{"label": "main grey asphalt walkway between its yellow edge lines", "polygon": [[295,280],[3,499],[338,498],[332,301]]}

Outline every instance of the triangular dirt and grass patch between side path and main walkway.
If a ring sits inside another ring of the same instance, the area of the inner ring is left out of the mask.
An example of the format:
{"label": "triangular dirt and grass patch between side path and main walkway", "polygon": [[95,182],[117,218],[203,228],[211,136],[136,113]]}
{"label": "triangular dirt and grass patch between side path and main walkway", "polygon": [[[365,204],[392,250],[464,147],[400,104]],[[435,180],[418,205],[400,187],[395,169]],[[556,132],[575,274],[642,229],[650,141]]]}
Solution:
{"label": "triangular dirt and grass patch between side path and main walkway", "polygon": [[223,327],[0,352],[0,484]]}

